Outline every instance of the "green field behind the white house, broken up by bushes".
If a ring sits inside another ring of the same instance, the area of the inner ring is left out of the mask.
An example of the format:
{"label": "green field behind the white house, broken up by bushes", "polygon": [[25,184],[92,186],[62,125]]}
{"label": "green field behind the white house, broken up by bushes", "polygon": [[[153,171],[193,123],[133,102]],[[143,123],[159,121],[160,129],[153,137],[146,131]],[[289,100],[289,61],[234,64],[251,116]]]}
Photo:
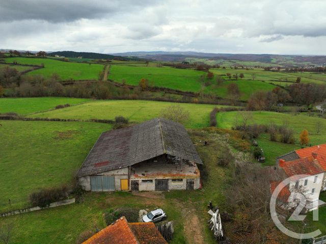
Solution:
{"label": "green field behind the white house, broken up by bushes", "polygon": [[[231,128],[234,126],[238,112],[222,112],[217,115],[218,127]],[[288,121],[289,126],[294,130],[294,137],[296,139],[295,144],[284,144],[280,142],[271,142],[268,139],[267,134],[263,134],[258,139],[258,143],[264,150],[266,156],[266,163],[273,165],[275,158],[293,151],[294,149],[301,148],[299,135],[302,130],[307,129],[309,131],[310,143],[312,145],[326,143],[326,120],[318,117],[309,117],[306,115],[291,115],[276,112],[252,112],[253,119],[249,121],[249,124],[265,124],[274,122],[277,125],[282,125],[283,121]],[[323,129],[320,134],[316,133],[317,122],[322,123]]]}

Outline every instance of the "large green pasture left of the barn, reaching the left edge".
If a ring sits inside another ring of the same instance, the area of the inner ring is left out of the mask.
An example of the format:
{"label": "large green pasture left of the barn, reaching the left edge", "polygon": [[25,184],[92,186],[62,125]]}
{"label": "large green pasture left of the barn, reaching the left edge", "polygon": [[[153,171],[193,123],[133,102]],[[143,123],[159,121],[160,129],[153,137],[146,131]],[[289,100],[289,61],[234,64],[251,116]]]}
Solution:
{"label": "large green pasture left of the barn, reaching the left edge", "polygon": [[102,131],[102,123],[1,121],[0,209],[23,207],[29,194],[69,183]]}

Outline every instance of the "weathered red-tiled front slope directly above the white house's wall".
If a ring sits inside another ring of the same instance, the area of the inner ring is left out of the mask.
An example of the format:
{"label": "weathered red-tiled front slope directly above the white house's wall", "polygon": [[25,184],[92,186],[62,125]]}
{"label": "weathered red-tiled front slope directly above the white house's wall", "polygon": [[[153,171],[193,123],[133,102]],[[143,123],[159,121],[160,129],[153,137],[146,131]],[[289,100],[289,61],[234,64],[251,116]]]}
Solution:
{"label": "weathered red-tiled front slope directly above the white house's wall", "polygon": [[317,160],[309,160],[308,158],[299,158],[285,162],[282,168],[288,176],[316,175],[325,171]]}

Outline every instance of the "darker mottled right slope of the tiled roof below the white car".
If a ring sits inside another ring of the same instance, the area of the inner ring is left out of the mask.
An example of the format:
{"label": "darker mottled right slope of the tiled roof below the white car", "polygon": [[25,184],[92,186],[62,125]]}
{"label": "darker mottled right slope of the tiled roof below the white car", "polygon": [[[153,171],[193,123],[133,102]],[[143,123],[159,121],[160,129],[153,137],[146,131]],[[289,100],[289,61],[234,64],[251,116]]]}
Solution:
{"label": "darker mottled right slope of the tiled roof below the white car", "polygon": [[140,244],[168,244],[153,223],[129,223]]}

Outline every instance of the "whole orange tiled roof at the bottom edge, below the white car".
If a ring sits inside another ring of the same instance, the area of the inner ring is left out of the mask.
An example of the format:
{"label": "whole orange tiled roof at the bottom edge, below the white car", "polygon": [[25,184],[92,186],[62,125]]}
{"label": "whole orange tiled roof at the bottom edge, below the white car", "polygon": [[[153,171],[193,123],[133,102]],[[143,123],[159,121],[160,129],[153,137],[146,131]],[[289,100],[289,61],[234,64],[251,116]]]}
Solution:
{"label": "whole orange tiled roof at the bottom edge, below the white car", "polygon": [[128,223],[120,219],[102,229],[83,244],[167,244],[153,223]]}

